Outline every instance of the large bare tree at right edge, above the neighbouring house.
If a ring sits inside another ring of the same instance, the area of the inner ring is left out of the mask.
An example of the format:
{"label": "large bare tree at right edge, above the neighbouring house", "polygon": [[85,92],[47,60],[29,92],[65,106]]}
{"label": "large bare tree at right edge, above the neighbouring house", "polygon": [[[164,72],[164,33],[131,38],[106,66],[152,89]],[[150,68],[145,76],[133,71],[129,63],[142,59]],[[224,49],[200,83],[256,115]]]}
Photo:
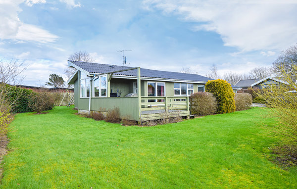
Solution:
{"label": "large bare tree at right edge, above the neighbouring house", "polygon": [[272,63],[273,71],[281,75],[282,71],[294,73],[294,66],[297,66],[297,44],[281,51],[277,59]]}

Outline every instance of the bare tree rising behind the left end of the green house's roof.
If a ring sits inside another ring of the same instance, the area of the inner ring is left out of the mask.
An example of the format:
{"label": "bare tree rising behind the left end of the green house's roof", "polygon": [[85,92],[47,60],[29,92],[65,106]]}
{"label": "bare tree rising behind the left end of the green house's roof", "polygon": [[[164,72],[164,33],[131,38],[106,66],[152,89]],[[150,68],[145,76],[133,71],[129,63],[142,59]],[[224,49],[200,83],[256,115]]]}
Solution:
{"label": "bare tree rising behind the left end of the green house's roof", "polygon": [[[77,51],[73,54],[70,54],[68,57],[68,60],[74,60],[74,61],[81,61],[81,62],[94,62],[95,60],[92,58],[92,56],[87,51]],[[70,79],[70,77],[75,72],[75,68],[65,68],[64,75],[67,79],[67,81]]]}

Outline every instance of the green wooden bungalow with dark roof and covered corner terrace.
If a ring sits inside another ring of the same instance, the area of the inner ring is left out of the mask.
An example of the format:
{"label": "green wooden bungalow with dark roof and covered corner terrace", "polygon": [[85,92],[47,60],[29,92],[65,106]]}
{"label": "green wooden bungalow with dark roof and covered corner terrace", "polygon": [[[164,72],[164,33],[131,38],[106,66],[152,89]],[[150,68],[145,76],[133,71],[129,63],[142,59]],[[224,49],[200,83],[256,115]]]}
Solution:
{"label": "green wooden bungalow with dark roof and covered corner terrace", "polygon": [[[210,78],[197,74],[68,60],[76,68],[68,81],[74,85],[79,113],[106,113],[119,108],[120,118],[147,121],[189,116],[189,95],[205,91]],[[233,89],[239,90],[233,86]]]}

